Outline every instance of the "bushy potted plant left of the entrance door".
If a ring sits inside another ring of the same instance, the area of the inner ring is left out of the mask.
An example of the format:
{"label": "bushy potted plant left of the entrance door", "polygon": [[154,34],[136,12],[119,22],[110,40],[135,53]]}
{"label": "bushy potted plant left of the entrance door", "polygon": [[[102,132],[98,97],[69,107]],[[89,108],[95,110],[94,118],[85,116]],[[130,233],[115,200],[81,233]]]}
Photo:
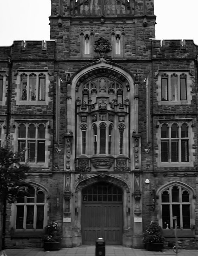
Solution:
{"label": "bushy potted plant left of the entrance door", "polygon": [[62,236],[56,221],[51,221],[45,227],[45,235],[42,237],[44,250],[60,250]]}

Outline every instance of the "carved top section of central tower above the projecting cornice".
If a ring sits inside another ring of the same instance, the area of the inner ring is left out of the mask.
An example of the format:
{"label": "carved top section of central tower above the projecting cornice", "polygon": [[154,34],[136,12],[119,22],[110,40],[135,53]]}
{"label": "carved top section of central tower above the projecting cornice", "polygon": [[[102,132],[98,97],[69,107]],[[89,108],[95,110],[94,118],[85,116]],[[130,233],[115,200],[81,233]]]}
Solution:
{"label": "carved top section of central tower above the projecting cornice", "polygon": [[154,15],[154,0],[51,0],[51,17]]}

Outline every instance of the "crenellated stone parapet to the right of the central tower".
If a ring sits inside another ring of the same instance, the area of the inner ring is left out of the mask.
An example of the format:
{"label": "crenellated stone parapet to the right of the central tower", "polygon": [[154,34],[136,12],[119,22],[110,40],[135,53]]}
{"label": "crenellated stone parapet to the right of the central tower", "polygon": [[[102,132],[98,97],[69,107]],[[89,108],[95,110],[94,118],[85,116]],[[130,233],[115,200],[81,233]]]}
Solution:
{"label": "crenellated stone parapet to the right of the central tower", "polygon": [[152,58],[194,58],[198,46],[193,40],[152,40]]}

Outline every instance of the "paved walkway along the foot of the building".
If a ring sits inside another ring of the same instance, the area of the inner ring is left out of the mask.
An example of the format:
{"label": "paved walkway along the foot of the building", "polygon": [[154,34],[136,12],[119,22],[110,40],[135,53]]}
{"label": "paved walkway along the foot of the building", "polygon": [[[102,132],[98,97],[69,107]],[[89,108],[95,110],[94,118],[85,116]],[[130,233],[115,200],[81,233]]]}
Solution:
{"label": "paved walkway along the foot of the building", "polygon": [[[95,256],[95,246],[82,245],[75,248],[62,248],[59,251],[44,251],[42,248],[6,249],[7,256]],[[145,249],[132,249],[119,245],[107,245],[106,256],[172,256],[173,250],[151,252]],[[198,256],[198,250],[179,250],[178,256]]]}

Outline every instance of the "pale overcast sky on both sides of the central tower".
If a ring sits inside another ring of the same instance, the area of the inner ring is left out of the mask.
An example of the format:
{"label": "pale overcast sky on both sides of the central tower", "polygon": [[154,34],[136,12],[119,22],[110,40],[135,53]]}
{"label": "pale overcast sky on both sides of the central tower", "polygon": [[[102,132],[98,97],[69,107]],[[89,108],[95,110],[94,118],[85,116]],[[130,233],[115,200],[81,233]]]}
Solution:
{"label": "pale overcast sky on both sides of the central tower", "polygon": [[[155,0],[156,39],[198,44],[198,0]],[[0,0],[0,46],[14,40],[49,40],[51,0]]]}

